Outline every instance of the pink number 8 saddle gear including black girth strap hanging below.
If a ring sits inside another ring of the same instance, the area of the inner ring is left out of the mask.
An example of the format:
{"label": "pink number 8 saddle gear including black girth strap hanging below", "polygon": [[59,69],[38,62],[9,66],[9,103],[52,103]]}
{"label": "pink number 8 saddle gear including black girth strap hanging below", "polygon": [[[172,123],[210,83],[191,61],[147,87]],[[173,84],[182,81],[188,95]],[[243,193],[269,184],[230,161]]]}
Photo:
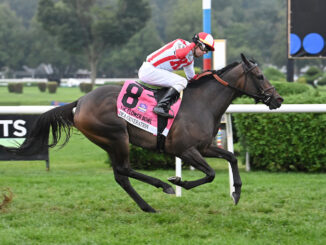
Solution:
{"label": "pink number 8 saddle gear including black girth strap hanging below", "polygon": [[164,118],[153,112],[158,101],[164,96],[168,88],[161,88],[127,80],[118,96],[118,116],[157,136],[157,150],[164,151],[165,138],[174,122],[181,105],[181,98],[171,105],[174,118]]}

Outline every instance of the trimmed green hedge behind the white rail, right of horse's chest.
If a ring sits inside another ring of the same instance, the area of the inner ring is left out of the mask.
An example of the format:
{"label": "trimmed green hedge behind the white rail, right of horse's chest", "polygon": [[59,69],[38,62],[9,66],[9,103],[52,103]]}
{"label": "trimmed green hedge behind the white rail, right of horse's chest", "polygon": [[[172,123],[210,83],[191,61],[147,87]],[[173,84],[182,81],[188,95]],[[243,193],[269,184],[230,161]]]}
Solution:
{"label": "trimmed green hedge behind the white rail, right of horse's chest", "polygon": [[[273,83],[285,104],[325,103],[326,94],[298,83]],[[284,91],[282,94],[281,91]],[[291,91],[291,92],[289,92]],[[293,91],[301,91],[292,94]],[[287,94],[287,95],[286,95]],[[247,102],[238,100],[238,103]],[[234,114],[241,155],[253,169],[326,171],[326,115],[312,113]]]}

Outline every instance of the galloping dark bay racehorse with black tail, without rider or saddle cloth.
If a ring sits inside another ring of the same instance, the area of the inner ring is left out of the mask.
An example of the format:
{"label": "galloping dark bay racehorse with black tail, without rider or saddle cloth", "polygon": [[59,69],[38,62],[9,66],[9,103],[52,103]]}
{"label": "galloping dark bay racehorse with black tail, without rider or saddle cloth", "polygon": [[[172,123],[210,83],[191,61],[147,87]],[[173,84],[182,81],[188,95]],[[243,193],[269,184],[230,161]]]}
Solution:
{"label": "galloping dark bay racehorse with black tail, without rider or saddle cloth", "polygon": [[[221,117],[231,102],[241,95],[252,97],[270,109],[280,107],[283,102],[282,97],[264,77],[257,64],[243,54],[241,58],[240,63],[235,62],[220,71],[212,71],[211,74],[201,76],[188,85],[184,90],[179,113],[165,142],[166,153],[181,158],[205,174],[205,177],[192,181],[184,181],[178,177],[169,179],[171,183],[185,189],[213,181],[215,172],[204,157],[224,158],[229,161],[234,177],[235,191],[232,196],[235,204],[240,199],[242,185],[237,159],[231,152],[212,144]],[[155,212],[133,189],[129,178],[162,188],[168,194],[173,194],[174,190],[168,183],[130,168],[129,144],[155,150],[157,141],[156,136],[117,116],[116,100],[120,90],[121,86],[99,87],[75,102],[45,112],[40,115],[19,148],[5,149],[16,151],[17,154],[30,154],[37,151],[36,143],[49,147],[57,145],[62,133],[65,135],[66,143],[70,137],[70,130],[75,127],[108,153],[116,182],[138,206],[145,212]],[[45,138],[50,130],[53,141],[48,144]]]}

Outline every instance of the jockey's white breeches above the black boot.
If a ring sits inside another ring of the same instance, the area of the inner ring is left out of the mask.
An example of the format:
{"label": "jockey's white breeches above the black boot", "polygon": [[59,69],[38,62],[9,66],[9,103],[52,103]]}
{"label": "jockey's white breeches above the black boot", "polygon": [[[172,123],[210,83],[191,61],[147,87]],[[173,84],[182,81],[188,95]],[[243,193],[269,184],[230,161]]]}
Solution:
{"label": "jockey's white breeches above the black boot", "polygon": [[187,87],[188,81],[173,72],[156,68],[149,62],[144,62],[139,68],[138,77],[144,83],[161,87],[173,87],[179,93]]}

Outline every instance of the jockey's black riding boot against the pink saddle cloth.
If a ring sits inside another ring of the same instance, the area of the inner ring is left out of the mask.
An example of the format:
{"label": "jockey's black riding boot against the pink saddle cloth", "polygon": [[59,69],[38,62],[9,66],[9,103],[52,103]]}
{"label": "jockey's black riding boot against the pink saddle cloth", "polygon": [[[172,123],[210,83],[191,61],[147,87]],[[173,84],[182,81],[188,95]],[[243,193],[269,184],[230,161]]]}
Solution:
{"label": "jockey's black riding boot against the pink saddle cloth", "polygon": [[180,93],[176,89],[172,87],[169,88],[163,98],[155,106],[153,110],[154,113],[162,117],[173,118],[174,116],[169,114],[170,106],[177,98],[179,98],[179,95]]}

